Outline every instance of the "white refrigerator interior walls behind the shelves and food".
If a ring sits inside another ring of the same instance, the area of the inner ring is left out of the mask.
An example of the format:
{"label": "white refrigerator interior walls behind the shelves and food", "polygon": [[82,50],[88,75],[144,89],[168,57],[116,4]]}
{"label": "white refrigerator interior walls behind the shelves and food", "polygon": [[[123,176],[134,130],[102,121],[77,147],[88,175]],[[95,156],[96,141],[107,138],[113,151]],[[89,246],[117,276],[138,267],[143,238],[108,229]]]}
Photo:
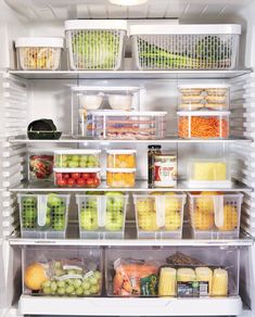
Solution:
{"label": "white refrigerator interior walls behind the shelves and food", "polygon": [[[240,23],[242,24],[242,36],[240,47],[240,68],[255,68],[255,3],[251,0],[234,1],[167,1],[149,0],[148,4],[125,8],[109,4],[106,0],[99,1],[36,1],[36,0],[5,0],[0,3],[0,34],[3,50],[0,52],[0,67],[2,68],[0,78],[0,91],[3,102],[1,103],[0,135],[2,142],[1,163],[3,173],[2,183],[2,205],[0,219],[0,280],[4,279],[0,288],[0,312],[2,316],[17,316],[18,299],[22,294],[22,248],[24,245],[10,245],[8,237],[15,238],[18,234],[18,212],[16,203],[16,191],[11,192],[9,188],[17,188],[21,180],[27,180],[27,152],[39,149],[52,149],[63,147],[80,147],[91,149],[117,149],[128,147],[138,151],[138,174],[139,185],[143,188],[146,185],[146,147],[149,142],[114,143],[111,141],[74,143],[51,143],[39,145],[36,143],[10,143],[9,137],[25,135],[27,125],[37,118],[53,118],[59,130],[64,135],[69,135],[72,130],[72,109],[71,109],[71,86],[137,86],[144,89],[145,93],[141,100],[141,110],[166,111],[168,125],[167,134],[177,135],[177,106],[178,106],[178,85],[183,84],[229,84],[231,86],[231,136],[237,138],[254,138],[255,130],[248,123],[254,117],[254,74],[244,74],[234,78],[200,78],[190,75],[189,78],[164,78],[160,75],[155,78],[137,76],[137,78],[111,78],[107,76],[100,78],[100,74],[92,74],[91,78],[86,76],[72,76],[64,74],[59,79],[47,78],[42,75],[18,76],[17,74],[7,75],[5,69],[15,68],[15,56],[13,53],[13,41],[20,36],[64,36],[63,22],[67,18],[128,18],[130,23],[136,20],[146,21],[157,24],[166,23],[167,18],[179,18],[179,23]],[[160,2],[160,3],[158,3]],[[171,2],[169,4],[169,2]],[[164,18],[164,20],[162,20]],[[165,22],[166,21],[166,22]],[[145,23],[145,22],[144,22]],[[176,22],[173,22],[176,23]],[[126,69],[131,68],[130,50],[126,52]],[[66,54],[63,56],[62,69],[66,69]],[[195,72],[194,72],[195,73]],[[15,99],[16,98],[16,99]],[[21,102],[20,107],[15,107]],[[13,105],[15,111],[9,111],[9,105]],[[245,107],[243,107],[245,104]],[[18,114],[18,115],[17,115]],[[151,142],[150,143],[154,143]],[[156,141],[156,143],[160,143]],[[187,177],[188,157],[192,155],[209,155],[211,157],[224,157],[231,161],[234,178],[243,182],[246,187],[254,188],[255,176],[253,155],[255,155],[254,143],[246,142],[163,142],[163,149],[178,153],[178,174],[181,178]],[[105,162],[104,162],[105,164]],[[103,175],[105,178],[105,175]],[[26,186],[26,185],[25,185]],[[184,185],[183,185],[184,188]],[[24,191],[25,191],[24,187]],[[242,188],[237,187],[237,190]],[[241,227],[243,236],[255,237],[254,205],[255,195],[253,192],[244,191],[244,204],[242,208]],[[77,212],[71,208],[71,224],[68,234],[78,239]],[[131,202],[127,214],[128,228],[126,238],[135,240],[135,211]],[[184,231],[186,232],[186,231]],[[190,238],[189,232],[187,238]],[[224,242],[222,242],[224,243]],[[191,243],[189,244],[192,250]],[[55,246],[58,248],[58,246]],[[188,246],[186,246],[188,248]],[[189,249],[189,248],[188,248]],[[207,248],[208,250],[209,248]],[[164,252],[164,251],[163,251]],[[255,314],[255,250],[253,243],[240,248],[240,295],[244,304],[244,313],[247,316]],[[1,269],[3,267],[3,269]],[[4,272],[4,277],[1,277]],[[149,299],[150,300],[150,299]],[[50,304],[50,302],[48,302]],[[61,301],[59,304],[61,305]],[[31,304],[37,305],[37,304]],[[47,305],[47,304],[46,304]],[[76,305],[76,304],[74,304]],[[92,304],[88,304],[93,307]],[[112,304],[110,304],[112,305]],[[130,302],[130,307],[135,305]],[[148,303],[150,307],[150,303]],[[43,304],[42,304],[43,306]],[[205,306],[206,307],[206,306]],[[92,309],[92,308],[91,308]],[[149,308],[150,309],[150,308]],[[160,308],[158,308],[160,309]],[[74,310],[75,312],[75,310]],[[92,310],[91,310],[92,312]],[[110,309],[111,312],[111,309]],[[113,310],[112,310],[113,312]],[[130,309],[130,316],[133,310]],[[161,312],[161,310],[160,310]],[[64,312],[62,312],[64,314]],[[4,315],[8,314],[8,315]],[[52,314],[56,314],[53,312]],[[75,313],[74,313],[75,314]],[[80,312],[77,310],[77,314]],[[149,314],[149,312],[148,312]],[[61,314],[60,314],[61,315]],[[125,315],[122,312],[122,315]],[[150,314],[149,314],[150,315]],[[244,315],[243,315],[244,316]]]}

